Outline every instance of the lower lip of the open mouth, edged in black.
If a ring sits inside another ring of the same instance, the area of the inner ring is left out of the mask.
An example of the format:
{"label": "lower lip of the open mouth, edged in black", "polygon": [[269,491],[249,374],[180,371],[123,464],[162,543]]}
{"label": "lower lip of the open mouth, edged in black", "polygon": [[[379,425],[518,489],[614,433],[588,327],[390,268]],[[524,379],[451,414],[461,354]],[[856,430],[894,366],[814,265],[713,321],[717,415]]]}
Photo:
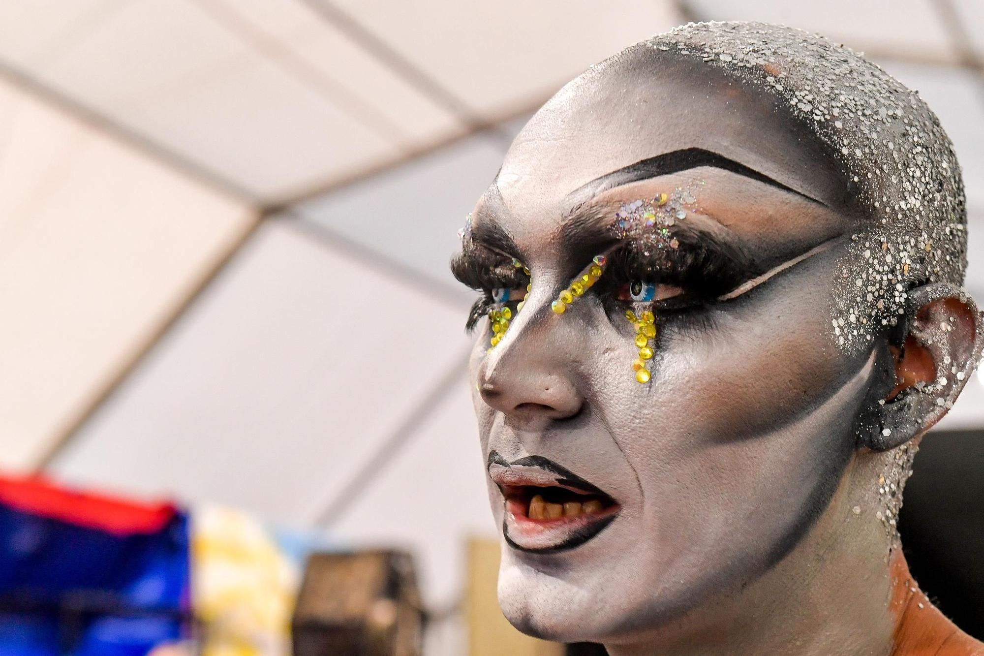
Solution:
{"label": "lower lip of the open mouth, edged in black", "polygon": [[532,554],[556,554],[576,549],[591,540],[615,519],[619,506],[613,505],[599,513],[557,519],[530,519],[525,504],[506,502],[503,535],[510,547]]}

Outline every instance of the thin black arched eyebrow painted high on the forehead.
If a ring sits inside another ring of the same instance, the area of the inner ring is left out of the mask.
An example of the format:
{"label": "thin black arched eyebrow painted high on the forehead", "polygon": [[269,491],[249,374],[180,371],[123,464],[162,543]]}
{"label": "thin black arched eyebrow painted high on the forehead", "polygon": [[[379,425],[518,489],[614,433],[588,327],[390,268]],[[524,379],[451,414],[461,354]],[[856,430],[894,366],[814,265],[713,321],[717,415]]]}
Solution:
{"label": "thin black arched eyebrow painted high on the forehead", "polygon": [[796,194],[797,196],[805,198],[813,203],[826,206],[826,203],[823,203],[812,196],[808,196],[798,189],[793,189],[792,187],[769,177],[769,175],[766,175],[765,173],[757,171],[754,168],[746,166],[745,164],[741,164],[740,162],[730,160],[723,155],[707,151],[703,148],[687,148],[679,151],[670,151],[669,153],[663,153],[662,155],[657,155],[653,158],[640,160],[636,164],[623,166],[622,168],[613,170],[610,173],[605,173],[604,175],[596,177],[590,182],[581,185],[568,194],[568,198],[584,201],[586,198],[591,198],[596,194],[607,191],[608,189],[622,186],[623,184],[647,180],[651,177],[658,177],[660,175],[678,173],[683,170],[699,168],[701,166],[712,166],[714,168],[721,168],[731,171],[732,173],[736,173],[753,180],[758,180],[759,182],[776,187],[777,189],[782,189],[784,191],[788,191],[789,193]]}

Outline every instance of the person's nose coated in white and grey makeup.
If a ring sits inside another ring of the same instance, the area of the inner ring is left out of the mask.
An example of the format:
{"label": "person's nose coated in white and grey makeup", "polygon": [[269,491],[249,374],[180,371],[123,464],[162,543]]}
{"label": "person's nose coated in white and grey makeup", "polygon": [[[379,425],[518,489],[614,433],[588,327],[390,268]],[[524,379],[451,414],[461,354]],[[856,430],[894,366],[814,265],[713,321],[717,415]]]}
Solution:
{"label": "person's nose coated in white and grey makeup", "polygon": [[577,416],[584,406],[576,354],[563,346],[579,343],[576,336],[564,334],[573,322],[549,307],[542,309],[546,313],[523,317],[527,321],[517,317],[478,367],[482,400],[514,420],[563,420]]}

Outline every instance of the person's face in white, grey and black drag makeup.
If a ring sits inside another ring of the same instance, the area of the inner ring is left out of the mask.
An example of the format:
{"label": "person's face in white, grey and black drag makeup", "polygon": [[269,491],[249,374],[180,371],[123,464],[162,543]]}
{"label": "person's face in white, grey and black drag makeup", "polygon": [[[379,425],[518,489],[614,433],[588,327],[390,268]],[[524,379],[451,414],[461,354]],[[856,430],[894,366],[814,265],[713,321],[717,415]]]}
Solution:
{"label": "person's face in white, grey and black drag makeup", "polygon": [[[688,149],[719,157],[660,158]],[[826,162],[769,98],[645,55],[572,83],[517,138],[465,255],[502,260],[476,287],[524,290],[510,258],[531,278],[521,311],[516,293],[495,305],[513,318],[491,350],[479,320],[470,366],[512,623],[601,640],[664,622],[754,579],[823,511],[872,369],[830,325],[853,224]],[[660,193],[686,216],[656,256],[615,213]],[[602,252],[597,284],[553,311]],[[646,383],[627,309],[655,314]]]}

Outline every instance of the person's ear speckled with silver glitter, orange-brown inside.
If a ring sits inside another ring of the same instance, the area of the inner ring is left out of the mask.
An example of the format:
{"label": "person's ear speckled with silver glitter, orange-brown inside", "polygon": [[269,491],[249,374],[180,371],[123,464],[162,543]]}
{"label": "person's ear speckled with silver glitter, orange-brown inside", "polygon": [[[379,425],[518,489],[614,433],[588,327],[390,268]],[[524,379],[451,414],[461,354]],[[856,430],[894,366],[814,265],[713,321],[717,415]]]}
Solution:
{"label": "person's ear speckled with silver glitter, orange-brown inside", "polygon": [[891,347],[895,386],[878,401],[877,419],[859,437],[860,446],[876,451],[899,446],[943,419],[984,348],[976,303],[946,283],[909,292],[899,328],[899,346]]}

